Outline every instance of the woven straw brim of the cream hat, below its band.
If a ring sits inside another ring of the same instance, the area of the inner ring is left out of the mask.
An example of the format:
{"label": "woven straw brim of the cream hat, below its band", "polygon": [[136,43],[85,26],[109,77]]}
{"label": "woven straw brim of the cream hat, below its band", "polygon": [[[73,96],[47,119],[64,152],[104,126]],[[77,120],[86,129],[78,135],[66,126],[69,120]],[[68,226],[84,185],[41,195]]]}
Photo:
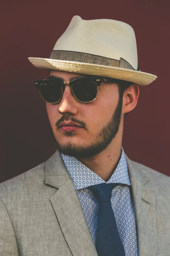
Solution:
{"label": "woven straw brim of the cream hat, below its band", "polygon": [[35,67],[40,69],[53,69],[101,77],[111,77],[133,82],[138,85],[148,85],[157,78],[157,76],[149,73],[105,65],[34,57],[29,57],[28,60]]}

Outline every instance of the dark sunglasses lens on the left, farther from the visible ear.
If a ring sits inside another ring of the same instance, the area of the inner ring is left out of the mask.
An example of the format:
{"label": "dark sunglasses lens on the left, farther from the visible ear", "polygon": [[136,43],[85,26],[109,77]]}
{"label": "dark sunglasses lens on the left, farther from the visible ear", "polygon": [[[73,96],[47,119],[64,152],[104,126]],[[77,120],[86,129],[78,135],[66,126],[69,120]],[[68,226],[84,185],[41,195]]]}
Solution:
{"label": "dark sunglasses lens on the left, farther from the visible ear", "polygon": [[49,103],[56,103],[60,100],[62,95],[61,83],[57,81],[43,81],[40,83],[39,91],[43,99]]}

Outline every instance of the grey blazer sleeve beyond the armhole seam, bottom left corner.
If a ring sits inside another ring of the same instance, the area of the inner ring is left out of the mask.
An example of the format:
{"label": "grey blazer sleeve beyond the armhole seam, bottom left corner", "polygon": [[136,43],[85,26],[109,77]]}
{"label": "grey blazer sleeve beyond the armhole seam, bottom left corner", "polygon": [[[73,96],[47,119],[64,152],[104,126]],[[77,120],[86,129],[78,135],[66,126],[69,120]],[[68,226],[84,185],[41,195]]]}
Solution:
{"label": "grey blazer sleeve beyond the armhole seam, bottom left corner", "polygon": [[9,214],[0,199],[0,255],[19,256],[15,232]]}

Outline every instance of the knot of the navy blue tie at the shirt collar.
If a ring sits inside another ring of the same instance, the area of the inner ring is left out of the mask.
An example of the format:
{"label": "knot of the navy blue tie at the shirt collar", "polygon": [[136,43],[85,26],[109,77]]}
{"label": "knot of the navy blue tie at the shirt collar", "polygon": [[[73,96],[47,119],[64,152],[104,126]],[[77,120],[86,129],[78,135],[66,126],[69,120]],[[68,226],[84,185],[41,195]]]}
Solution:
{"label": "knot of the navy blue tie at the shirt collar", "polygon": [[119,185],[118,183],[102,183],[91,187],[92,192],[98,197],[99,203],[108,202],[111,203],[110,198],[112,189]]}

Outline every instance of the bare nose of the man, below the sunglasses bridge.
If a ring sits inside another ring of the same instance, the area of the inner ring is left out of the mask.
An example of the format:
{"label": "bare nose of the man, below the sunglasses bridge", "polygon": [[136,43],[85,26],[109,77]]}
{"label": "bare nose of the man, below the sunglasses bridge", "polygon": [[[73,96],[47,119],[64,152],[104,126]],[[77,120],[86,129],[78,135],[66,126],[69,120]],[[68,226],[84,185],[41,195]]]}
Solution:
{"label": "bare nose of the man, below the sunglasses bridge", "polygon": [[72,95],[70,85],[65,85],[62,99],[58,105],[58,111],[61,114],[71,113],[73,115],[76,115],[78,112],[78,102],[76,98]]}

